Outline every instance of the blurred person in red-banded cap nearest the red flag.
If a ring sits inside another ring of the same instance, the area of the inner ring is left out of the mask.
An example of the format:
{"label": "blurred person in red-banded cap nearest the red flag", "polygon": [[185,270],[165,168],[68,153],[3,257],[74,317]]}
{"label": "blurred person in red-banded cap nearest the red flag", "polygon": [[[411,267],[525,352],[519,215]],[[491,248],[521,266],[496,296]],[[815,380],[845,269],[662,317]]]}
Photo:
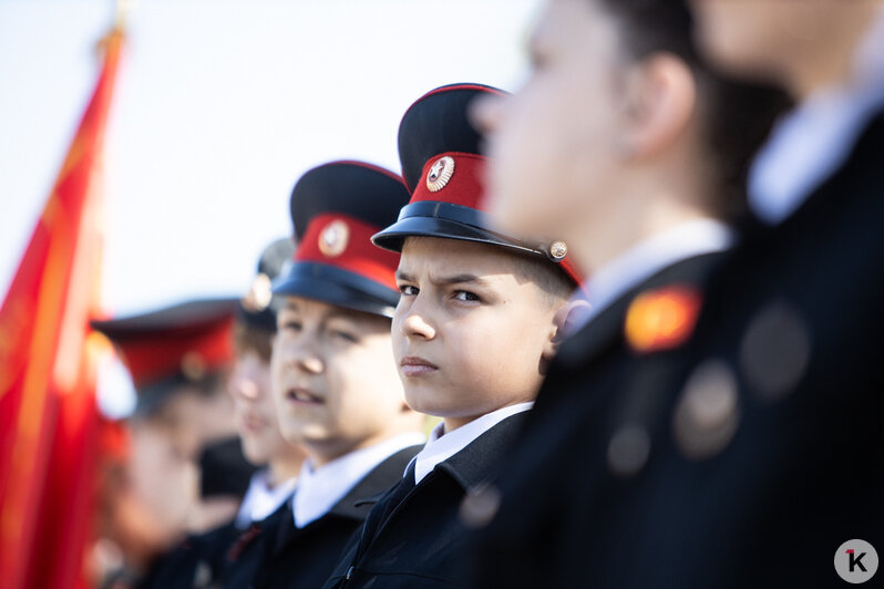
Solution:
{"label": "blurred person in red-banded cap nearest the red flag", "polygon": [[95,321],[116,345],[137,392],[129,418],[125,499],[145,512],[143,575],[185,533],[233,518],[248,485],[226,379],[233,360],[234,299],[195,300]]}

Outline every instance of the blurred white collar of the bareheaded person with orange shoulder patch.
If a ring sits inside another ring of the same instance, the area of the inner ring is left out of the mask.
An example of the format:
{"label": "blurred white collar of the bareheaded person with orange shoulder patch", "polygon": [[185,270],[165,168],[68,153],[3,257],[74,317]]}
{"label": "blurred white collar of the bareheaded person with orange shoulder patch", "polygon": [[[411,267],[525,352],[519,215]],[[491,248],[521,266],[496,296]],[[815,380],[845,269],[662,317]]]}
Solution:
{"label": "blurred white collar of the bareheaded person with orange shoulder patch", "polygon": [[573,335],[631,288],[676,262],[724,251],[737,240],[733,229],[717,219],[696,219],[648,237],[596,270],[575,298],[589,302],[566,335]]}

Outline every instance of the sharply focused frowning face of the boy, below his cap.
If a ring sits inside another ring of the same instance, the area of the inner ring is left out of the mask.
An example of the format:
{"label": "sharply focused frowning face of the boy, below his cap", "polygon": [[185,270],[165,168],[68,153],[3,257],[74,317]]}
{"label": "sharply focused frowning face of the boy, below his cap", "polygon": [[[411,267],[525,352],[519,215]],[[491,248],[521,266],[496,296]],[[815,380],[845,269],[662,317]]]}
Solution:
{"label": "sharply focused frowning face of the boy, below his cap", "polygon": [[451,431],[537,393],[573,283],[502,247],[405,238],[393,352],[405,399]]}

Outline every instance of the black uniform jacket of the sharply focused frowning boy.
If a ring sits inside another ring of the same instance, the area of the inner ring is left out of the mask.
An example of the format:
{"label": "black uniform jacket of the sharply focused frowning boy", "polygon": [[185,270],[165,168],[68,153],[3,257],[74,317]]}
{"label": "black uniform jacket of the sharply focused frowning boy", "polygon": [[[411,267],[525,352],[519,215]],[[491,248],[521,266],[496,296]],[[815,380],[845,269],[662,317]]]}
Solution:
{"label": "black uniform jacket of the sharply focused frowning boy", "polygon": [[498,474],[525,413],[506,417],[441,462],[417,486],[413,468],[379,497],[325,587],[452,587],[464,580],[472,494]]}

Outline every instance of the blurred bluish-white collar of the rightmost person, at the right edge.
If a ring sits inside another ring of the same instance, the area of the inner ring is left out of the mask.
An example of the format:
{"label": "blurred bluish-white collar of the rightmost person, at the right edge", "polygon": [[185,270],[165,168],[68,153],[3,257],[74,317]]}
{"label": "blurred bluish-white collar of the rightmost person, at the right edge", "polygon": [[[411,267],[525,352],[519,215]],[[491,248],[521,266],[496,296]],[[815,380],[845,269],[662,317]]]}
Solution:
{"label": "blurred bluish-white collar of the rightmost person, at the right edge", "polygon": [[845,85],[822,90],[782,118],[749,174],[749,205],[768,225],[792,215],[845,163],[884,107],[884,10],[870,27]]}

